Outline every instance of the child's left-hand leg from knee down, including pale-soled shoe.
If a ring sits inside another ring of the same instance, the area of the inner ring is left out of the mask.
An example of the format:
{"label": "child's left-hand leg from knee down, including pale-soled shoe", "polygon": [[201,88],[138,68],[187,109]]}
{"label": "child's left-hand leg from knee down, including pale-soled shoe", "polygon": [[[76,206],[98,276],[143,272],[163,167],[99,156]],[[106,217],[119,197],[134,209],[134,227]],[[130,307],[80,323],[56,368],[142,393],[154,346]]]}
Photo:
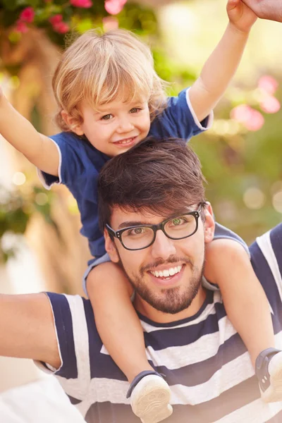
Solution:
{"label": "child's left-hand leg from knee down, including pale-soled shoe", "polygon": [[143,423],[157,423],[172,413],[166,381],[150,366],[140,320],[130,300],[133,288],[112,262],[95,266],[87,275],[87,294],[99,335],[130,382],[130,403]]}

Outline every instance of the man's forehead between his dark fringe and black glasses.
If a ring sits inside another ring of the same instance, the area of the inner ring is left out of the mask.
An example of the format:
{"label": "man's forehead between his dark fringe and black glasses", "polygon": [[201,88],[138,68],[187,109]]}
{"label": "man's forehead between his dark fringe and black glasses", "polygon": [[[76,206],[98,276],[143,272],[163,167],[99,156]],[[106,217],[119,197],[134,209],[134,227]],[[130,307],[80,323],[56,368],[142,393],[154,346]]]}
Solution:
{"label": "man's forehead between his dark fringe and black glasses", "polygon": [[178,214],[188,213],[195,210],[197,206],[192,204],[190,206],[181,207],[177,210],[164,209],[159,210],[158,213],[154,212],[154,209],[142,208],[140,210],[133,210],[130,207],[112,207],[111,222],[110,225],[115,231],[128,226],[140,225],[140,224],[157,224],[165,219],[176,216]]}

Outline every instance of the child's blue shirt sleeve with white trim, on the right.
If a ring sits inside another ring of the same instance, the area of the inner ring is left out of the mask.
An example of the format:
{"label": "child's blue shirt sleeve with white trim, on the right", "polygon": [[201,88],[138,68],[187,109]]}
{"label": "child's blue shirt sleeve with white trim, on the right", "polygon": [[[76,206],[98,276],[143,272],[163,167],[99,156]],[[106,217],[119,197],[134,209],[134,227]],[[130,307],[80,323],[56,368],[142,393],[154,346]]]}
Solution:
{"label": "child's blue shirt sleeve with white trim, on the right", "polygon": [[202,122],[198,121],[189,98],[189,89],[169,97],[166,109],[154,119],[149,135],[157,137],[177,137],[190,140],[191,137],[209,129],[213,123],[211,113]]}

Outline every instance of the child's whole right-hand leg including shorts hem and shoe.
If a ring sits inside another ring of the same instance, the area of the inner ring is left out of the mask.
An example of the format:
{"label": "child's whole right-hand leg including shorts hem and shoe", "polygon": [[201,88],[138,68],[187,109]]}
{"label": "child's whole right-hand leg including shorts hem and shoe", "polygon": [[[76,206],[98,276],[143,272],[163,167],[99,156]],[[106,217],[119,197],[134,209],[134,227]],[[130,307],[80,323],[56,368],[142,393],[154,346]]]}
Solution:
{"label": "child's whole right-hand leg including shorts hem and shoe", "polygon": [[[282,353],[274,348],[269,302],[247,255],[239,245],[246,249],[243,240],[238,235],[233,236],[223,226],[217,233],[216,240],[207,248],[205,276],[221,289],[228,317],[251,355],[262,399],[266,402],[280,401]],[[282,247],[282,226],[271,233],[281,240]],[[238,243],[233,243],[232,239]]]}

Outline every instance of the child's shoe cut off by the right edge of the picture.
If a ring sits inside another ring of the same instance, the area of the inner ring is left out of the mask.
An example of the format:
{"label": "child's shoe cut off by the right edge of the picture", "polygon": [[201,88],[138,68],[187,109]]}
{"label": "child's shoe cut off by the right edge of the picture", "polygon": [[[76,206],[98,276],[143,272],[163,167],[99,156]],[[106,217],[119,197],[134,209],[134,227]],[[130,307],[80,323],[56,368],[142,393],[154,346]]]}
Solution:
{"label": "child's shoe cut off by the right edge of the picture", "polygon": [[267,348],[255,362],[262,399],[266,403],[282,400],[282,351]]}

